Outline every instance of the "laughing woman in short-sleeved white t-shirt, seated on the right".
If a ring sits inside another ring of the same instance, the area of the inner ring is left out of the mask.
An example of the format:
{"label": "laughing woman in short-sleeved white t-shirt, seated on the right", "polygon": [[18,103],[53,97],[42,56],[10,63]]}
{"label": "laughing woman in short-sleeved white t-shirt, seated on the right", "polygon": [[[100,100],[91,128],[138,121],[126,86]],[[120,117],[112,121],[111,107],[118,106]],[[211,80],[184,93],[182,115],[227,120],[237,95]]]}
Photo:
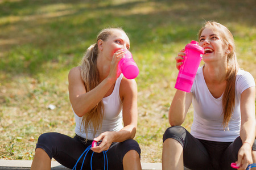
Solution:
{"label": "laughing woman in short-sleeved white t-shirt, seated on the right", "polygon": [[[177,90],[169,110],[171,127],[163,135],[165,169],[246,169],[256,163],[255,81],[239,69],[232,33],[207,22],[199,32],[205,50],[191,92]],[[182,65],[184,49],[176,57]],[[191,133],[183,124],[193,104]]]}

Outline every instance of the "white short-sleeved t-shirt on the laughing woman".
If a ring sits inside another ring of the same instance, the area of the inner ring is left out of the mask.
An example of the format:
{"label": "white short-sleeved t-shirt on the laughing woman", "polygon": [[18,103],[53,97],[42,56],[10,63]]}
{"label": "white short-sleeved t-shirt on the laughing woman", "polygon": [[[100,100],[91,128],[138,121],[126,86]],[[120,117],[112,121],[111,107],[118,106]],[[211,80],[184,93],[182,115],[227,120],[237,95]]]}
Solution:
{"label": "white short-sleeved t-shirt on the laughing woman", "polygon": [[233,142],[240,136],[241,94],[249,87],[255,86],[253,76],[243,70],[238,70],[236,76],[236,105],[229,121],[229,130],[223,128],[222,96],[214,98],[205,83],[203,67],[197,70],[191,92],[194,108],[194,119],[191,126],[191,134],[195,138],[208,141]]}

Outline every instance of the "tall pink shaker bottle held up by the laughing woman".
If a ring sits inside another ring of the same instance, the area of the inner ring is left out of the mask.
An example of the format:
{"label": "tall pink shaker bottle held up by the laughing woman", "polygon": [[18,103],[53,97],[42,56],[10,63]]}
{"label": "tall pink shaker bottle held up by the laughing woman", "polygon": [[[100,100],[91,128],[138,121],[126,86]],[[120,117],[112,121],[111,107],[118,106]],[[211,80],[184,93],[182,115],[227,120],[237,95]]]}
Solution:
{"label": "tall pink shaker bottle held up by the laughing woman", "polygon": [[199,46],[197,41],[191,41],[185,46],[184,53],[186,55],[184,56],[183,65],[180,66],[175,88],[190,92],[197,69],[204,54],[204,48]]}

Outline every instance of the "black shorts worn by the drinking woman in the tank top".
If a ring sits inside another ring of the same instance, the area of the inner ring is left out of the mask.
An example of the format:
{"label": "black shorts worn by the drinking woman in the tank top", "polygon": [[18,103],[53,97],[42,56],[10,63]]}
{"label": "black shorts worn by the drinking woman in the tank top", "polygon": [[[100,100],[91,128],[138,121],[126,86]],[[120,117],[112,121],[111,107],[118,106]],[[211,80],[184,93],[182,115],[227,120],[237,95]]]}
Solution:
{"label": "black shorts worn by the drinking woman in the tank top", "polygon": [[[85,139],[79,135],[71,138],[60,133],[44,133],[38,138],[36,148],[42,148],[44,151],[46,151],[50,159],[54,158],[60,164],[72,169],[85,149],[89,145],[92,145],[92,141],[88,140],[86,143],[84,141]],[[106,152],[108,156],[108,168],[123,169],[123,156],[125,156],[125,154],[130,150],[135,150],[139,155],[141,155],[141,148],[139,147],[139,144],[133,139],[128,139],[120,143],[112,143],[112,145],[109,147],[109,150]],[[90,169],[90,159],[92,153],[93,151],[89,150],[82,169]],[[82,156],[79,163],[77,164],[77,169],[81,168],[83,160],[84,156]],[[104,169],[103,152],[94,152],[92,167],[93,169]]]}

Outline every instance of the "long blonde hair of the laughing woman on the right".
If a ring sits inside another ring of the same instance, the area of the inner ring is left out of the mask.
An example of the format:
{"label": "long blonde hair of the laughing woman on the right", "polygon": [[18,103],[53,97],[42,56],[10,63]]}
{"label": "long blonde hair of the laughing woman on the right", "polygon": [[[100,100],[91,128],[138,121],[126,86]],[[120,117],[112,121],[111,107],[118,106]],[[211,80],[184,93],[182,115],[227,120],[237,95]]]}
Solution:
{"label": "long blonde hair of the laughing woman on the right", "polygon": [[212,27],[214,30],[218,31],[222,42],[226,46],[230,46],[230,52],[227,54],[227,71],[226,71],[226,88],[222,98],[222,115],[223,123],[225,128],[228,128],[228,124],[235,107],[235,95],[236,95],[236,75],[239,70],[239,65],[237,62],[234,37],[232,33],[224,25],[217,22],[206,22],[204,26],[199,31],[199,39],[203,30],[207,27]]}

